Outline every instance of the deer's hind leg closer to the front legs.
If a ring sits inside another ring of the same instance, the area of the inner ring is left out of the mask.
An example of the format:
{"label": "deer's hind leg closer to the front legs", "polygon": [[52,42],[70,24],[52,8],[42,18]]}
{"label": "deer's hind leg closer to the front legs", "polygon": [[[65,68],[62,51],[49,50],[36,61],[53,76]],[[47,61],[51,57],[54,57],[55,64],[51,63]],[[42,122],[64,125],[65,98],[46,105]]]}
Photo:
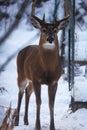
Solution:
{"label": "deer's hind leg closer to the front legs", "polygon": [[25,90],[25,115],[24,115],[24,124],[28,125],[28,104],[30,96],[33,92],[33,84],[32,81],[29,81],[29,85],[27,86]]}

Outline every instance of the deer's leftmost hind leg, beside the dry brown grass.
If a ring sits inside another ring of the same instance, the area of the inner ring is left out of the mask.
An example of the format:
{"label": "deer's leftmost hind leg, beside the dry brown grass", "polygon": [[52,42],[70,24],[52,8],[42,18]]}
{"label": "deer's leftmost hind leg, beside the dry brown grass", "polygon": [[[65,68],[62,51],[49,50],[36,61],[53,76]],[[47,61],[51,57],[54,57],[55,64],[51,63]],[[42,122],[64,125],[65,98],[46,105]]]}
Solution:
{"label": "deer's leftmost hind leg, beside the dry brown grass", "polygon": [[23,78],[18,77],[18,86],[19,86],[19,93],[18,93],[18,105],[17,105],[17,115],[15,118],[15,125],[18,126],[19,124],[19,113],[20,113],[20,107],[21,107],[21,101],[24,94],[24,90],[27,84],[27,80],[24,80]]}

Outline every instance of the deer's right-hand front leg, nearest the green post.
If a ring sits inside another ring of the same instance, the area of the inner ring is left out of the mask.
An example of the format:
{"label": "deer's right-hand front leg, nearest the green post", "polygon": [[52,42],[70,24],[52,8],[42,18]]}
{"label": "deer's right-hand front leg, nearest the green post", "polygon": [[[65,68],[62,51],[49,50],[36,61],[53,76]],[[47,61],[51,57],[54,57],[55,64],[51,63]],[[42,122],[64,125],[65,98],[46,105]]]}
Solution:
{"label": "deer's right-hand front leg, nearest the green post", "polygon": [[52,83],[51,85],[48,86],[49,108],[50,108],[50,130],[55,130],[54,102],[55,102],[56,90],[57,90],[57,83]]}

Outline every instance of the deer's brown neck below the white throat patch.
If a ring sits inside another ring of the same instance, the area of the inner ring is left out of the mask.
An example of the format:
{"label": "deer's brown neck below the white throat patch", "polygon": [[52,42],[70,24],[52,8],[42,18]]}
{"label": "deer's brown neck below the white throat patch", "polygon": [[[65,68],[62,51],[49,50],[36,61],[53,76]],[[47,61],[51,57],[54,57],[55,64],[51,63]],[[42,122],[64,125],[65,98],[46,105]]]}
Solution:
{"label": "deer's brown neck below the white throat patch", "polygon": [[[47,43],[47,46],[49,46],[50,43]],[[40,45],[40,61],[42,63],[42,66],[44,70],[48,71],[54,71],[55,67],[58,64],[58,56],[59,56],[59,48],[58,44],[54,46],[54,44],[51,47],[46,48]]]}

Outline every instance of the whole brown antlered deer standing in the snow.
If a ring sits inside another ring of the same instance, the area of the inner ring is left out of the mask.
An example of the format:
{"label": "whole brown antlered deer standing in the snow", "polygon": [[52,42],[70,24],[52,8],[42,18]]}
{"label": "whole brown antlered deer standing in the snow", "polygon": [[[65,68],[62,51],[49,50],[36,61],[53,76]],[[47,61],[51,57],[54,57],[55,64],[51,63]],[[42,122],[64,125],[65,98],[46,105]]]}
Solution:
{"label": "whole brown antlered deer standing in the snow", "polygon": [[28,104],[31,93],[36,96],[36,125],[35,130],[40,130],[40,105],[41,84],[48,85],[50,130],[55,130],[54,125],[54,101],[57,90],[57,82],[61,75],[61,59],[59,56],[59,42],[57,33],[61,29],[60,24],[69,19],[70,14],[55,23],[46,23],[34,15],[35,3],[32,5],[31,17],[33,25],[41,32],[39,45],[27,46],[22,49],[17,57],[18,71],[18,106],[15,125],[19,123],[21,100],[25,90],[25,115],[24,124],[28,125]]}

